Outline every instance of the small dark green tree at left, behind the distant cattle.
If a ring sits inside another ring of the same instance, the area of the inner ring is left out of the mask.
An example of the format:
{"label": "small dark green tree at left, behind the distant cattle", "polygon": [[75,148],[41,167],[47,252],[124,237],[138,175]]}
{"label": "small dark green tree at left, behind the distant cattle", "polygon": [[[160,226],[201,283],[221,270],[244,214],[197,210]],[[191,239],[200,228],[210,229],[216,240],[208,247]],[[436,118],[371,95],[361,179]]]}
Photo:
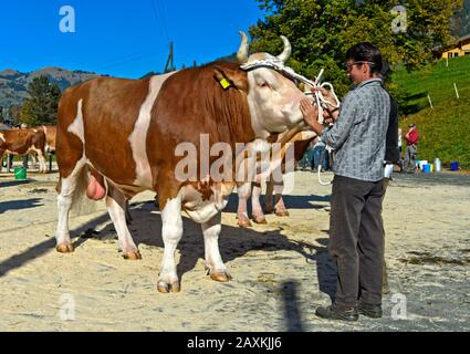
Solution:
{"label": "small dark green tree at left, behind the distant cattle", "polygon": [[21,110],[21,123],[28,126],[55,125],[61,90],[48,76],[34,77],[28,85],[28,98]]}

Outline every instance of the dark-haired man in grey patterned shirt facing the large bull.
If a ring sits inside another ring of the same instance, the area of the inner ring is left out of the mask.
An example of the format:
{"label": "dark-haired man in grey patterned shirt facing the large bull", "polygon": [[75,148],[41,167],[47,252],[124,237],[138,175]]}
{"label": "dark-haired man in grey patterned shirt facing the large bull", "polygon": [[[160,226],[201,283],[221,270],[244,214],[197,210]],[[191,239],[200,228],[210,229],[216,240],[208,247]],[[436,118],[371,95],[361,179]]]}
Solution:
{"label": "dark-haired man in grey patterned shirt facing the large bull", "polygon": [[316,309],[316,315],[324,319],[357,321],[359,313],[382,316],[380,214],[390,111],[390,98],[378,76],[382,66],[382,54],[370,43],[358,43],[346,52],[347,75],[355,86],[340,113],[328,106],[335,122],[331,128],[317,122],[316,106],[301,102],[305,122],[336,152],[328,247],[338,274],[333,304]]}

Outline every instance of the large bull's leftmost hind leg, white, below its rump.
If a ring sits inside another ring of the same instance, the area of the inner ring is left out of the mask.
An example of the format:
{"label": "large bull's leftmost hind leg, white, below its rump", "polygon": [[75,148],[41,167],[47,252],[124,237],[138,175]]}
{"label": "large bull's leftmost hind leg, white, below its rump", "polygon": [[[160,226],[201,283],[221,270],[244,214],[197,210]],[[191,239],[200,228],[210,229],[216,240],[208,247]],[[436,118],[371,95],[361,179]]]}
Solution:
{"label": "large bull's leftmost hind leg, white, below its rump", "polygon": [[[85,166],[85,158],[80,159],[75,167],[73,168],[72,174],[67,177],[60,179],[60,194],[58,196],[58,230],[55,233],[56,239],[56,250],[61,253],[73,252],[73,246],[70,242],[70,232],[69,232],[69,214],[72,208],[74,194],[77,192],[79,183],[83,176],[83,168]],[[80,192],[80,191],[79,191]]]}

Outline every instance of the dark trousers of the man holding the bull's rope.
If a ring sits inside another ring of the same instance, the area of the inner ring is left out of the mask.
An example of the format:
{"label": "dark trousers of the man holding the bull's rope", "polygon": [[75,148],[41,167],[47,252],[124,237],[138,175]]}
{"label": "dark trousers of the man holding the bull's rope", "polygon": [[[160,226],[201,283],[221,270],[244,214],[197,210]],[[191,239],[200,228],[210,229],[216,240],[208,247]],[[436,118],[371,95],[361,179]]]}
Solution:
{"label": "dark trousers of the man holding the bull's rope", "polygon": [[358,299],[382,304],[383,195],[383,180],[334,177],[328,248],[338,270],[337,306],[355,308]]}

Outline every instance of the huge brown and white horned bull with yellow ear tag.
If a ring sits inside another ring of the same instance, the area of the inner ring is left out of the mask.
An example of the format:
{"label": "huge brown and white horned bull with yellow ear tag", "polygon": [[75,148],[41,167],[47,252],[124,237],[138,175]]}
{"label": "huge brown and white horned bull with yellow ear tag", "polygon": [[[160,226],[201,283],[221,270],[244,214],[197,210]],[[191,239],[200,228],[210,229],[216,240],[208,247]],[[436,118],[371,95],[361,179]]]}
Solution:
{"label": "huge brown and white horned bull with yellow ear tag", "polygon": [[[285,61],[291,49],[283,41],[285,49],[278,58]],[[273,56],[248,58],[243,34],[238,58],[247,62]],[[232,152],[237,143],[262,148],[271,134],[303,126],[303,97],[291,80],[271,69],[246,72],[223,61],[143,80],[100,77],[69,88],[59,104],[56,250],[73,251],[69,211],[74,197],[84,192],[83,185],[88,197],[106,198],[123,256],[139,259],[126,226],[125,205],[134,195],[154,190],[165,244],[158,291],[180,289],[175,251],[182,236],[181,210],[201,225],[211,279],[228,281],[218,238],[221,210],[236,183],[215,181],[202,174],[197,180],[181,181],[175,171],[182,157],[176,150],[180,144],[202,150],[201,135],[212,146],[228,144]],[[216,157],[198,156],[198,163],[203,159],[212,163]]]}

